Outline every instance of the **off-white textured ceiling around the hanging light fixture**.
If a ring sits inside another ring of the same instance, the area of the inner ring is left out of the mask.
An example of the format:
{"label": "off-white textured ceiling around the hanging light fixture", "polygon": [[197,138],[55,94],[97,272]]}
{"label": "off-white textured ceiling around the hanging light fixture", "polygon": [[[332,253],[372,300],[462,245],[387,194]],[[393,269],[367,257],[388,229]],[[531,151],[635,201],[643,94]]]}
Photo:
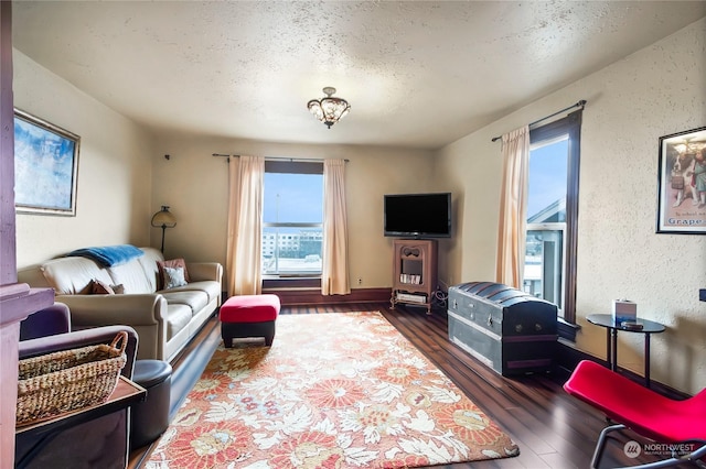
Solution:
{"label": "off-white textured ceiling around the hanging light fixture", "polygon": [[[471,133],[706,15],[706,1],[15,1],[12,8],[14,47],[158,131],[422,149]],[[306,108],[324,86],[352,106],[331,129]]]}

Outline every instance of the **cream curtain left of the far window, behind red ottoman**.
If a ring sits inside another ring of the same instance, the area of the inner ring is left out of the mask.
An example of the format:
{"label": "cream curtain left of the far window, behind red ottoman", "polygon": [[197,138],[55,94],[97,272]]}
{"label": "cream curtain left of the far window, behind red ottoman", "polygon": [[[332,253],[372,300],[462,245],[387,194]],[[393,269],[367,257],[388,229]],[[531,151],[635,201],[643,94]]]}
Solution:
{"label": "cream curtain left of the far window, behind red ottoman", "polygon": [[228,181],[228,296],[257,295],[263,290],[265,159],[242,155],[231,160]]}

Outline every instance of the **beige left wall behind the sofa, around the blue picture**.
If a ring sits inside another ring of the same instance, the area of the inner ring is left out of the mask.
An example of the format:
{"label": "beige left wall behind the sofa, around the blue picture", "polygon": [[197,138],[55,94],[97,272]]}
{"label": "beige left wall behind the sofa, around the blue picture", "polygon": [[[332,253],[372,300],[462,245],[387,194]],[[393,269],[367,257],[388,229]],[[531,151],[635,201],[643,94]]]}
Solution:
{"label": "beige left wall behind the sofa, around the blue picture", "polygon": [[17,50],[14,107],[81,137],[75,217],[17,216],[18,268],[87,246],[149,241],[153,141]]}

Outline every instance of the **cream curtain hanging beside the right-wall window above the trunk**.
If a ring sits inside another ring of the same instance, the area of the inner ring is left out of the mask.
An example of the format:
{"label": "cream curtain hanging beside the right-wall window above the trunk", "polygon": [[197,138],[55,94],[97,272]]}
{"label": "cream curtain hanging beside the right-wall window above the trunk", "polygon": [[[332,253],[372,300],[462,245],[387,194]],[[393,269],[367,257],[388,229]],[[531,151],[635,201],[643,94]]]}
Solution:
{"label": "cream curtain hanging beside the right-wall window above the trunk", "polygon": [[522,288],[525,228],[527,222],[527,175],[530,171],[530,127],[502,137],[503,185],[500,199],[495,281]]}

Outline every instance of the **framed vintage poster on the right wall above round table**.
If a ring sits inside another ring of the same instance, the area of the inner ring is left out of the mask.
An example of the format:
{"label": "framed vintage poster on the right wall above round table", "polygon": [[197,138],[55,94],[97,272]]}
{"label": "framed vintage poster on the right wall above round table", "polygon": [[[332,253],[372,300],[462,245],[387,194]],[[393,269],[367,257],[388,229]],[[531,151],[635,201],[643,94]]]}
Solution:
{"label": "framed vintage poster on the right wall above round table", "polygon": [[657,233],[706,234],[706,127],[660,138]]}

